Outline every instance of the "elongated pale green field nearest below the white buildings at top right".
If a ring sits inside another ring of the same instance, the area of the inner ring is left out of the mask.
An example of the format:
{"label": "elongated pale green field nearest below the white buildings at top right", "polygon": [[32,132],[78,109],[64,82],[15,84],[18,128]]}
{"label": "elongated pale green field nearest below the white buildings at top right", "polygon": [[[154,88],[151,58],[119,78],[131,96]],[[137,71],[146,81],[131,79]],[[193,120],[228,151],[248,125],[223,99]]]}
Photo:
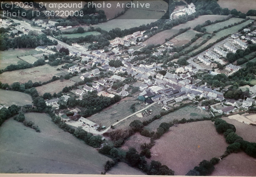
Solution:
{"label": "elongated pale green field nearest below the white buildings at top right", "polygon": [[188,21],[185,24],[174,26],[172,29],[181,29],[181,28],[187,28],[187,27],[191,27],[191,29],[193,29],[197,25],[201,25],[207,20],[211,20],[211,22],[213,22],[215,20],[222,20],[225,18],[227,18],[227,16],[225,15],[202,15],[202,16],[199,16],[198,18],[195,18],[192,21]]}

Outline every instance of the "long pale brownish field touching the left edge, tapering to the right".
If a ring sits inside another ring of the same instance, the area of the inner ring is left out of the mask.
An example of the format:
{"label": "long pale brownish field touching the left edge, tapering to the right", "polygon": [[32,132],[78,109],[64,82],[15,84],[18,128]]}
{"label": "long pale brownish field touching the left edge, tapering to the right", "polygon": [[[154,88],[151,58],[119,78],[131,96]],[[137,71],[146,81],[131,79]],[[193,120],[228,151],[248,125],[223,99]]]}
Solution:
{"label": "long pale brownish field touching the left edge, tapering to the right", "polygon": [[28,80],[32,80],[32,82],[45,82],[52,79],[55,74],[59,73],[57,68],[60,68],[62,65],[50,66],[48,64],[44,64],[43,66],[34,68],[4,72],[0,74],[0,81],[7,84],[12,84],[14,82],[20,82],[23,84],[28,82]]}

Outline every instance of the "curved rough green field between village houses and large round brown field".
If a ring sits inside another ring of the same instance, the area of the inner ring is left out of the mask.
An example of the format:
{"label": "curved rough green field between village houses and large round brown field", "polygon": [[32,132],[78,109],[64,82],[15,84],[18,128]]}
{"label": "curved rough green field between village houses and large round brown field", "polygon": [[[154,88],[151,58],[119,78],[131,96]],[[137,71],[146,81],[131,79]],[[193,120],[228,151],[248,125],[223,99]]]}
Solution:
{"label": "curved rough green field between village houses and large round brown field", "polygon": [[[163,111],[163,110],[162,110]],[[177,111],[174,111],[170,114],[162,116],[160,119],[155,120],[148,126],[145,126],[145,129],[148,129],[149,131],[156,131],[156,128],[162,123],[162,122],[171,122],[175,119],[181,120],[183,118],[185,119],[196,119],[196,118],[202,118],[203,116],[208,117],[209,113],[206,111],[203,111],[199,108],[195,108],[192,106],[186,106],[183,107]]]}

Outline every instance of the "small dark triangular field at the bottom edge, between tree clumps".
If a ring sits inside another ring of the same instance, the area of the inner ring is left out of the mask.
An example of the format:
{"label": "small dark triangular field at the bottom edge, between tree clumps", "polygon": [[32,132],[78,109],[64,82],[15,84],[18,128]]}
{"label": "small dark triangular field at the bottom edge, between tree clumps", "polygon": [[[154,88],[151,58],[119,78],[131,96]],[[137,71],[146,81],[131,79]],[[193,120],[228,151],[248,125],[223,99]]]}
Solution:
{"label": "small dark triangular field at the bottom edge, between tree clumps", "polygon": [[145,175],[142,171],[130,167],[124,162],[119,162],[117,165],[111,168],[106,175]]}

